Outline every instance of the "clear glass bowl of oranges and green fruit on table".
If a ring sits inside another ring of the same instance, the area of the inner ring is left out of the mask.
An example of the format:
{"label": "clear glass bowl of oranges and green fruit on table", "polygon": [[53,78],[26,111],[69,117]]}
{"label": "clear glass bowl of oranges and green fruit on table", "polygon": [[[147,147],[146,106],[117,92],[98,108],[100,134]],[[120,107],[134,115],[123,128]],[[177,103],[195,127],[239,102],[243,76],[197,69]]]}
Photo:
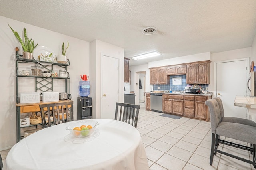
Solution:
{"label": "clear glass bowl of oranges and green fruit on table", "polygon": [[69,126],[66,127],[70,133],[77,138],[84,138],[90,136],[99,125],[97,121],[88,120],[88,121],[79,121],[75,123],[70,123]]}

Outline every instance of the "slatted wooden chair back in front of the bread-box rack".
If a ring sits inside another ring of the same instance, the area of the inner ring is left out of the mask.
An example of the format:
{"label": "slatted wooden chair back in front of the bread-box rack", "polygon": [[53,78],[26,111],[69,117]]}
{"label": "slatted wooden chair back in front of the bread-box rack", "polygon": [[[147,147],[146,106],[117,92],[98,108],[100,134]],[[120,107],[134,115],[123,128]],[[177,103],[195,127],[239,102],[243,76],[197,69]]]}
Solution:
{"label": "slatted wooden chair back in front of the bread-box rack", "polygon": [[[73,101],[40,104],[40,109],[43,128],[73,121]],[[46,121],[46,118],[48,118],[48,121]]]}

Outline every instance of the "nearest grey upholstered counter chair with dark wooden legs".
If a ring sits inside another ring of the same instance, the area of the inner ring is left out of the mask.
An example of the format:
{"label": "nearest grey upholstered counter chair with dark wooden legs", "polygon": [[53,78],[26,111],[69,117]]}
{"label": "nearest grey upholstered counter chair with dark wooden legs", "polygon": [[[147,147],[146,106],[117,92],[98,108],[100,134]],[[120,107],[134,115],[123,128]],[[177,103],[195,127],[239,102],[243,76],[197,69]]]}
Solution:
{"label": "nearest grey upholstered counter chair with dark wooden legs", "polygon": [[[213,157],[217,153],[221,153],[232,158],[236,158],[238,160],[242,160],[249,164],[252,164],[254,168],[256,168],[256,127],[250,125],[244,125],[240,123],[234,122],[224,122],[222,120],[221,109],[218,105],[216,99],[209,99],[205,102],[210,111],[211,117],[211,127],[212,127],[212,144],[211,144],[211,154],[210,154],[210,165],[212,165]],[[219,136],[225,136],[227,138],[232,138],[236,140],[240,140],[243,142],[247,142],[252,144],[251,147],[244,146],[241,144],[236,144],[234,142],[229,142],[226,140],[222,140]],[[253,154],[253,160],[247,160],[241,158],[239,156],[223,152],[222,150],[218,150],[218,144],[224,144],[228,146],[232,146],[235,148],[240,148],[243,150],[250,151]]]}

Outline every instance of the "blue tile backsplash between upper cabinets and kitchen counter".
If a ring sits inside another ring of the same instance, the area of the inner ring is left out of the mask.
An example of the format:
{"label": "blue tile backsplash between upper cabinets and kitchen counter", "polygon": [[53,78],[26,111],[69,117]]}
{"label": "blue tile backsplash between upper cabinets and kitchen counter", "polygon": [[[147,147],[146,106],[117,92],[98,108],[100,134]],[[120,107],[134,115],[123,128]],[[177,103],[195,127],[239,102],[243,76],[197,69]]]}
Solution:
{"label": "blue tile backsplash between upper cabinets and kitchen counter", "polygon": [[[173,85],[172,79],[181,77],[181,85]],[[168,85],[153,85],[153,90],[172,90],[172,91],[183,91],[187,85],[192,84],[186,84],[186,74],[184,75],[170,75],[170,84]],[[206,87],[209,87],[208,84],[199,84],[200,87],[206,89]],[[160,89],[158,89],[160,87]]]}

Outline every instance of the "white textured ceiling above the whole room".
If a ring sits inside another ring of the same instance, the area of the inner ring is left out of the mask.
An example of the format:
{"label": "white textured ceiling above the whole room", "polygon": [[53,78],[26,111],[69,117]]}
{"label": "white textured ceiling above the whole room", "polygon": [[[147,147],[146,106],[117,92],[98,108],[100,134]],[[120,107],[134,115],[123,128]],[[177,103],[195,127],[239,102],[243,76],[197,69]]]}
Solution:
{"label": "white textured ceiling above the whole room", "polygon": [[[91,42],[124,55],[159,51],[160,59],[251,47],[256,0],[0,0],[0,15]],[[158,32],[144,35],[144,27]],[[152,58],[130,60],[140,65]]]}

